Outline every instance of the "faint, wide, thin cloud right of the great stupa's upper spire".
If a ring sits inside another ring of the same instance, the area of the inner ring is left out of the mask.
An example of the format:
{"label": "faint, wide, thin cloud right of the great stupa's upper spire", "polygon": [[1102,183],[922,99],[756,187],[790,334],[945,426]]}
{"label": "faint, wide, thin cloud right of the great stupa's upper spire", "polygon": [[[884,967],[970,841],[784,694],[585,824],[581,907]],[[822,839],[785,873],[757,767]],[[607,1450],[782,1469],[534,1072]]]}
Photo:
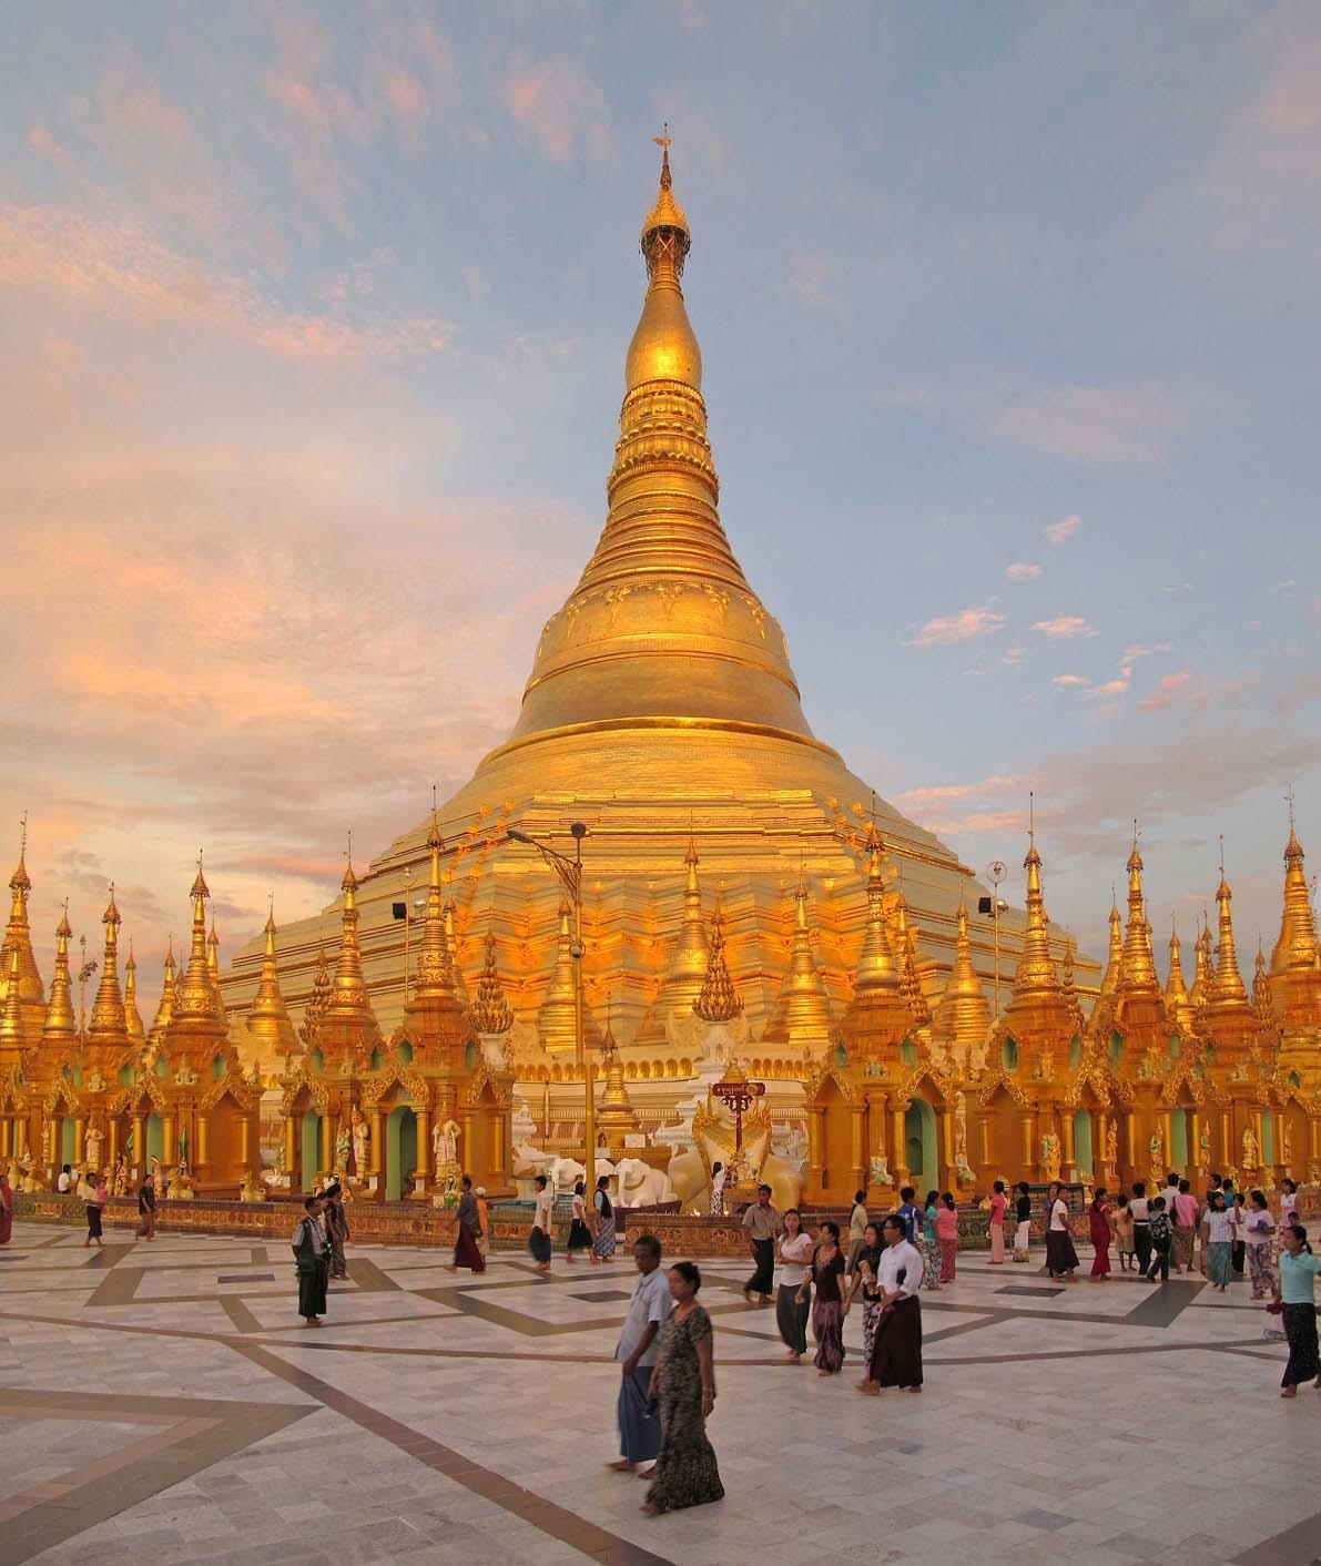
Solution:
{"label": "faint, wide, thin cloud right of the great stupa's upper spire", "polygon": [[1084,385],[964,373],[945,384],[887,387],[874,395],[1081,465],[1160,462],[1183,435],[1230,407],[1219,387],[1193,376]]}

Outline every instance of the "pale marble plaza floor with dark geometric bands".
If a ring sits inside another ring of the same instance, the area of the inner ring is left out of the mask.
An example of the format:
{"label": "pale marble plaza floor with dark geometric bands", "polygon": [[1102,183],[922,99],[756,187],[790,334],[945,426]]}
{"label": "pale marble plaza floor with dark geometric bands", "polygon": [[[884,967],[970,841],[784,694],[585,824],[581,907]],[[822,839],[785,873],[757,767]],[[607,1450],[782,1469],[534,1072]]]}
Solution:
{"label": "pale marble plaza floor with dark geometric bands", "polygon": [[[280,1245],[20,1225],[0,1248],[0,1566],[1315,1566],[1321,1394],[1243,1284],[1051,1287],[983,1254],[923,1304],[926,1392],[773,1364],[705,1268],[727,1499],[649,1519],[616,1455],[632,1262],[351,1248],[301,1330]],[[1084,1262],[1086,1265],[1086,1262]]]}

